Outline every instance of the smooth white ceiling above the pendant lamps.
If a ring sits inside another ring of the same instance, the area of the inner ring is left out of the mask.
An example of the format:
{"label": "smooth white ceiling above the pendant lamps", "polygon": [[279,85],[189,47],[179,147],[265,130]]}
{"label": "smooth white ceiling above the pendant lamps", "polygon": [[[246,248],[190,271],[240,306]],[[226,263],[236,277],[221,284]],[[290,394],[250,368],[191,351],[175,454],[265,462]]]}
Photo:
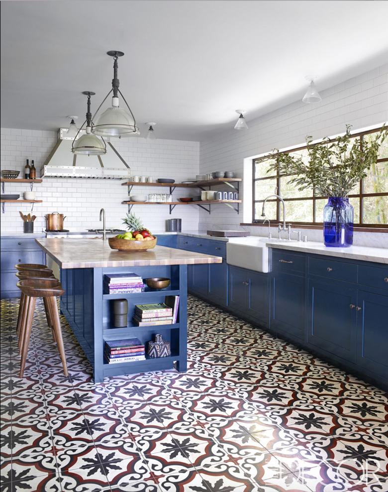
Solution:
{"label": "smooth white ceiling above the pendant lamps", "polygon": [[[141,128],[198,140],[388,61],[387,1],[1,1],[1,126],[56,129],[120,89]],[[145,131],[144,131],[145,134]]]}

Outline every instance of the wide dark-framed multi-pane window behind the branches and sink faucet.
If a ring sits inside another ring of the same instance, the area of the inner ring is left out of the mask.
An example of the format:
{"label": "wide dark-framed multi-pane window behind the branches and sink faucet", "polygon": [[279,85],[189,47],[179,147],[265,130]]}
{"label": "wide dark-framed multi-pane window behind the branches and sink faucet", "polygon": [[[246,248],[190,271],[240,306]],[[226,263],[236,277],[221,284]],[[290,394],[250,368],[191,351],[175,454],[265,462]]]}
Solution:
{"label": "wide dark-framed multi-pane window behind the branches and sink faucet", "polygon": [[[376,128],[366,132],[354,133],[360,137],[360,145],[366,139],[374,138],[380,130]],[[308,160],[307,146],[287,150],[295,156]],[[263,202],[269,195],[280,195],[286,202],[287,222],[294,225],[322,225],[323,207],[327,197],[316,196],[314,190],[300,192],[294,184],[288,183],[288,176],[274,174],[270,169],[276,155],[268,154],[253,160],[253,223],[263,223]],[[283,220],[279,199],[269,199],[265,213],[271,222]],[[363,228],[388,228],[388,138],[379,149],[375,165],[368,171],[349,194],[349,202],[354,207],[354,226]]]}

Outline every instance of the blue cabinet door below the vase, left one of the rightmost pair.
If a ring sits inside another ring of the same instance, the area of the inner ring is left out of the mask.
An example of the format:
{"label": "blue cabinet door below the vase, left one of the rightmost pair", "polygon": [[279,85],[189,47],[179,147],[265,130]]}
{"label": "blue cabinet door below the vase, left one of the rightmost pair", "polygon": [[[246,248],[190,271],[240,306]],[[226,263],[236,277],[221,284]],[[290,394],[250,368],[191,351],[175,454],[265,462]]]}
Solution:
{"label": "blue cabinet door below the vase, left one of the rightmost pair", "polygon": [[309,279],[307,342],[355,362],[356,305],[357,291],[353,285]]}

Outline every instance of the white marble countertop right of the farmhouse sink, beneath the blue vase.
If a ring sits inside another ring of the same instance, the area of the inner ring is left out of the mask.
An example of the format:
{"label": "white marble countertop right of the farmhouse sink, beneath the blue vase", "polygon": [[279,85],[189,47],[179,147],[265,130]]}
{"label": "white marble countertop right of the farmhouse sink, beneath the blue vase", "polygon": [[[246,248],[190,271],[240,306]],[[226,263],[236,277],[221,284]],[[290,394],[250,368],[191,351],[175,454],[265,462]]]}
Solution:
{"label": "white marble countertop right of the farmhouse sink, beneath the blue vase", "polygon": [[[388,238],[387,238],[388,239]],[[350,246],[350,247],[327,247],[323,243],[288,242],[288,241],[266,241],[266,246],[279,249],[290,249],[304,253],[322,254],[324,256],[336,256],[346,259],[359,259],[373,261],[375,263],[388,263],[388,241],[387,247]]]}

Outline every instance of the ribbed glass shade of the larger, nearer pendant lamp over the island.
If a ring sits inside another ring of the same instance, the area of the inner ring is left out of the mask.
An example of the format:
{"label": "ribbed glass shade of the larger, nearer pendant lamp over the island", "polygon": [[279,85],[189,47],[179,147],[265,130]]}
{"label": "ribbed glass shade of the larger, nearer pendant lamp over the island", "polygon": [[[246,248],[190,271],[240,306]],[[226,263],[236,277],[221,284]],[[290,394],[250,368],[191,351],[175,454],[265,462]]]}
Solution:
{"label": "ribbed glass shade of the larger, nearer pendant lamp over the island", "polygon": [[101,136],[140,135],[139,128],[133,123],[131,116],[118,106],[111,106],[105,110],[92,131]]}

